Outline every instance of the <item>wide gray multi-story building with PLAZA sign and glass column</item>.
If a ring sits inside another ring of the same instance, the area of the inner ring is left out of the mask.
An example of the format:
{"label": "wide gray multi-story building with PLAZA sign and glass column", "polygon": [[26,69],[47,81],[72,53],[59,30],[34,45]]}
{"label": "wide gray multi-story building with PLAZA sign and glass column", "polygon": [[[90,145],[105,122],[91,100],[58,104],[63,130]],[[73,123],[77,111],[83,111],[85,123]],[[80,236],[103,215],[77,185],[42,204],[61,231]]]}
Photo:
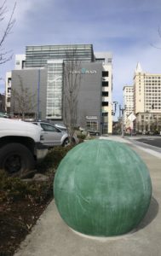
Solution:
{"label": "wide gray multi-story building with PLAZA sign and glass column", "polygon": [[[68,74],[79,80],[77,125],[112,133],[112,54],[94,53],[92,44],[26,46],[26,55],[16,55],[6,92],[23,84],[35,96],[32,114],[37,119],[64,122],[66,69],[71,64]],[[7,102],[10,112],[18,114],[14,95],[6,94]]]}

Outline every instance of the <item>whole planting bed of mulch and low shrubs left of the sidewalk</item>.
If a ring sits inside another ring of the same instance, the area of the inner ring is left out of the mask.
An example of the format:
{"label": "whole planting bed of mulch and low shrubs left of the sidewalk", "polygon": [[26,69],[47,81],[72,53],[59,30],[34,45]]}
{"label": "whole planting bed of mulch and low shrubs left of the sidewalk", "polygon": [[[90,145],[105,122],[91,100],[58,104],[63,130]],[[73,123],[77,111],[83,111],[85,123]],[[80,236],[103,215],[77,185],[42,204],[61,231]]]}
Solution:
{"label": "whole planting bed of mulch and low shrubs left of the sidewalk", "polygon": [[[37,166],[47,178],[24,182],[0,172],[0,256],[14,255],[53,198],[56,167],[71,147],[55,147]],[[39,177],[38,177],[39,178]]]}

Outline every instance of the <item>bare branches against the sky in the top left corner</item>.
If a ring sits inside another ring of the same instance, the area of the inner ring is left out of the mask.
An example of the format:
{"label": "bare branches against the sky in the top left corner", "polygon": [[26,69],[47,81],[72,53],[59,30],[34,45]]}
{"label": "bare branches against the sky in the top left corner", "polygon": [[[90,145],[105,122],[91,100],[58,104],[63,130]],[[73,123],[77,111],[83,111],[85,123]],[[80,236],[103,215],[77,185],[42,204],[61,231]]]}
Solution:
{"label": "bare branches against the sky in the top left corner", "polygon": [[[5,0],[0,5],[0,25],[2,25],[2,26],[3,26],[3,21],[5,20],[5,15],[8,12],[6,3],[7,3],[7,1]],[[9,20],[7,22],[7,25],[4,27],[4,29],[1,27],[2,34],[0,35],[0,65],[11,60],[11,58],[12,58],[11,51],[5,49],[4,43],[14,26],[15,6],[16,6],[16,2],[14,3],[14,8],[12,9],[11,15],[9,15]]]}

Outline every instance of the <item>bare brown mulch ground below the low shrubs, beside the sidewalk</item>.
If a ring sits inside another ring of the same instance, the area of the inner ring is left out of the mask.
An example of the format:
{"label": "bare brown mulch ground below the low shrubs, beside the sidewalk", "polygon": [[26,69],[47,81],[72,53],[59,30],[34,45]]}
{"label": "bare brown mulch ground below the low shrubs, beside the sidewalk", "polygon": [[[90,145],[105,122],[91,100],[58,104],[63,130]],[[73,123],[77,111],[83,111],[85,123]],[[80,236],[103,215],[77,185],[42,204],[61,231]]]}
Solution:
{"label": "bare brown mulch ground below the low shrubs, beside the sidewalk", "polygon": [[0,203],[0,256],[14,255],[51,198],[37,203],[33,198]]}

